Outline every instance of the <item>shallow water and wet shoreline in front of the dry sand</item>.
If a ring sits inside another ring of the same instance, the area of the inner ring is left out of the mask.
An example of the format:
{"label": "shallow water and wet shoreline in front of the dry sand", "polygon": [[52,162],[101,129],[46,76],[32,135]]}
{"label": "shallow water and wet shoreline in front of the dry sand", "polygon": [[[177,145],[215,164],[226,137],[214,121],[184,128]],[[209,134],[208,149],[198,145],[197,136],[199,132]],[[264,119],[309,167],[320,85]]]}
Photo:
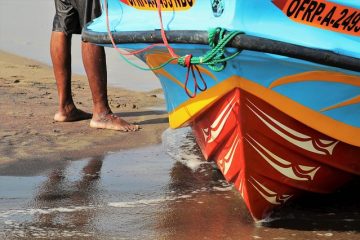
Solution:
{"label": "shallow water and wet shoreline in front of the dry sand", "polygon": [[189,129],[163,142],[2,168],[0,239],[360,239],[359,181],[254,223],[215,166],[201,164]]}

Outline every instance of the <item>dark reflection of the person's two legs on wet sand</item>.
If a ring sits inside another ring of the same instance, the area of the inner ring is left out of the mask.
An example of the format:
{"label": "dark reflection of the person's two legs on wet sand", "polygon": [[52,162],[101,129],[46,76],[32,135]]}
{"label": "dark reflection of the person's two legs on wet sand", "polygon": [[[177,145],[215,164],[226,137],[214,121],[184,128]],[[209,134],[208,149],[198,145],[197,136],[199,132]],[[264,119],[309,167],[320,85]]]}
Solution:
{"label": "dark reflection of the person's two legs on wet sand", "polygon": [[[98,187],[103,156],[93,157],[81,170],[80,179],[72,181],[67,176],[66,168],[54,169],[48,179],[38,188],[34,198],[34,206],[38,209],[59,209],[59,211],[38,214],[33,224],[41,229],[62,229],[69,233],[93,233],[96,210],[89,208],[99,201],[101,190]],[[78,210],[66,212],[61,207],[76,207]],[[86,207],[84,207],[86,206]],[[81,208],[83,207],[83,209]],[[87,237],[90,237],[87,236]]]}

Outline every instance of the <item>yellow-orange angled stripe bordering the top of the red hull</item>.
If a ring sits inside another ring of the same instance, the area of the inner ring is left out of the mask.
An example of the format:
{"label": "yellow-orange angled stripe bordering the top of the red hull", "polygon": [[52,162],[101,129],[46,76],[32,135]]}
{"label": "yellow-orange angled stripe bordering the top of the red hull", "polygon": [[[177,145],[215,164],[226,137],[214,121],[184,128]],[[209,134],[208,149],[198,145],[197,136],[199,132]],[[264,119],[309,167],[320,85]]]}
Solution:
{"label": "yellow-orange angled stripe bordering the top of the red hull", "polygon": [[170,126],[180,127],[190,123],[201,112],[208,109],[222,96],[235,88],[240,88],[264,100],[289,117],[327,136],[354,146],[360,146],[360,128],[353,127],[305,107],[269,88],[263,87],[239,76],[232,76],[207,91],[196,99],[189,99],[169,114]]}

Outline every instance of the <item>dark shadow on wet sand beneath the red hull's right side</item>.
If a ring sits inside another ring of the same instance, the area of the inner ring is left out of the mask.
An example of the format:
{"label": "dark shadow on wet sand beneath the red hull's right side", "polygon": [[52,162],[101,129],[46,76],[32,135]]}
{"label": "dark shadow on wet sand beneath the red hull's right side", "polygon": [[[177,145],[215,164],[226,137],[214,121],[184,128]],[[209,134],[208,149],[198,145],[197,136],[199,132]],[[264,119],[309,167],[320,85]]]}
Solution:
{"label": "dark shadow on wet sand beneath the red hull's right side", "polygon": [[274,212],[264,227],[360,232],[360,177],[332,194],[307,194]]}

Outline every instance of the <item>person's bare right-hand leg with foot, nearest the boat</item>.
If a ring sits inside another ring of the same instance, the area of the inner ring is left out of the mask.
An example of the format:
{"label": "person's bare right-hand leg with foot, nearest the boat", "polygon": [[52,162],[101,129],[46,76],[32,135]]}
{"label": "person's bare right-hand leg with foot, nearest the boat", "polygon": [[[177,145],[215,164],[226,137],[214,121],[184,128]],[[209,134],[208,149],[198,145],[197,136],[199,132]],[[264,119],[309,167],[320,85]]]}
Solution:
{"label": "person's bare right-hand leg with foot, nearest the boat", "polygon": [[90,126],[119,131],[139,130],[138,125],[126,122],[113,114],[110,109],[107,98],[107,72],[104,48],[82,42],[82,58],[93,98],[93,117],[90,121]]}

